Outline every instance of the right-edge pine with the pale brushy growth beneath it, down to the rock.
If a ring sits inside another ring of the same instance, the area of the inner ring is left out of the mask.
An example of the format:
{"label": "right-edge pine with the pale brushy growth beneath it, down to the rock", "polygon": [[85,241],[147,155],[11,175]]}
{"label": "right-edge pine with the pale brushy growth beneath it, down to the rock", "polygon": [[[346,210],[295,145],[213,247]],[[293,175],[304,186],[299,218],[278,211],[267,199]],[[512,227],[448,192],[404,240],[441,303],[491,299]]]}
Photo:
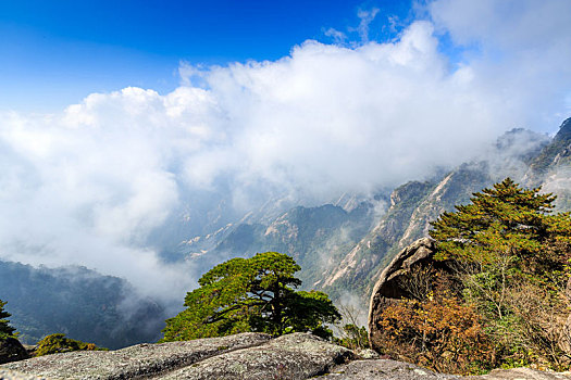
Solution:
{"label": "right-edge pine with the pale brushy growth beneath it, down to the rock", "polygon": [[[437,258],[456,268],[459,296],[483,316],[498,355],[529,364],[542,357],[566,368],[561,326],[568,317],[571,218],[553,214],[555,195],[510,178],[444,213],[430,232]],[[501,351],[500,350],[500,351]],[[566,364],[567,363],[567,364]]]}

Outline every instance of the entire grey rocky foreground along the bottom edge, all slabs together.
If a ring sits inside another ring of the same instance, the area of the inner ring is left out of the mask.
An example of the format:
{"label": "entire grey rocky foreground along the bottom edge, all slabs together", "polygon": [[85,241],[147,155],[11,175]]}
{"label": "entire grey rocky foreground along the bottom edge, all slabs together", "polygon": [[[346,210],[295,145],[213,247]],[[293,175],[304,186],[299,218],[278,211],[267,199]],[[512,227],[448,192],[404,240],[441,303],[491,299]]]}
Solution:
{"label": "entire grey rocky foreground along the bottom edge, all slabs together", "polygon": [[[313,335],[276,339],[262,333],[162,344],[117,351],[84,351],[36,357],[0,366],[0,379],[467,379],[435,373],[411,364],[363,359],[350,350]],[[570,379],[571,373],[527,368],[495,370],[472,380]]]}

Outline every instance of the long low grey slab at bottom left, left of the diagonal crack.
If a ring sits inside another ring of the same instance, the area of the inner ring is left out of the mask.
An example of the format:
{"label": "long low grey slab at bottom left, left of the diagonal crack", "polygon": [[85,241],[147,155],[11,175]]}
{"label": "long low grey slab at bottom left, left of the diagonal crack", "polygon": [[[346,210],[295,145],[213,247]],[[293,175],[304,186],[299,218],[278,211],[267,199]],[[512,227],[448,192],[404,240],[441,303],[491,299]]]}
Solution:
{"label": "long low grey slab at bottom left, left of the diagonal crack", "polygon": [[223,352],[268,342],[268,334],[237,335],[161,344],[137,344],[117,351],[82,351],[35,357],[1,368],[47,379],[137,379],[189,366]]}

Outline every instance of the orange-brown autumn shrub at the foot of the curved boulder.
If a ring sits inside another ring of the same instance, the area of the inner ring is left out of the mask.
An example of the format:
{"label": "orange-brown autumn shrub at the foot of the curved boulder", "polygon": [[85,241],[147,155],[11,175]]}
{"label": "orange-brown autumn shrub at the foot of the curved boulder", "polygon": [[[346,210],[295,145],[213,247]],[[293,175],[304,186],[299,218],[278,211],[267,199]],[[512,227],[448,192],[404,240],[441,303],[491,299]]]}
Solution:
{"label": "orange-brown autumn shrub at the foot of the curved boulder", "polygon": [[381,319],[386,354],[440,372],[473,373],[494,367],[493,341],[482,317],[438,289],[425,300],[404,300]]}

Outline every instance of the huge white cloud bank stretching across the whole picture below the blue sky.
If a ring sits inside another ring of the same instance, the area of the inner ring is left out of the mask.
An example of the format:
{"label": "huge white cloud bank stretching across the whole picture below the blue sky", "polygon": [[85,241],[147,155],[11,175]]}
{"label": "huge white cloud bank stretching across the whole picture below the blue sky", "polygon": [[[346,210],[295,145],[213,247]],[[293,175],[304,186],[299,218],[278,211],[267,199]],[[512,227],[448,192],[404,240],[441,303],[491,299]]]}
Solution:
{"label": "huge white cloud bank stretching across the whole picture below the blue sky", "polygon": [[148,237],[197,194],[246,211],[275,194],[368,193],[470,160],[513,127],[553,132],[570,114],[569,1],[425,11],[394,41],[183,63],[171,93],[125,88],[1,115],[0,257],[82,264],[182,300],[193,268],[162,263]]}

